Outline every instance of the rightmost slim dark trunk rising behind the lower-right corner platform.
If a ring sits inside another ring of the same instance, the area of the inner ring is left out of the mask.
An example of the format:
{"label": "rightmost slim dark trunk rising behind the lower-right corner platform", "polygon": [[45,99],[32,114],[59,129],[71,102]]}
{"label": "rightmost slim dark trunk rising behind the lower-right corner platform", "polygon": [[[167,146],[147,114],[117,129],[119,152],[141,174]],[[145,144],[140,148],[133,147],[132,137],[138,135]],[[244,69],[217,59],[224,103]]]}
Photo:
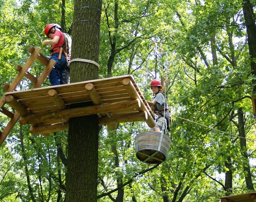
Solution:
{"label": "rightmost slim dark trunk rising behind the lower-right corner platform", "polygon": [[243,157],[243,171],[244,171],[244,178],[247,189],[254,190],[253,182],[252,182],[252,175],[250,170],[249,158],[247,154],[247,147],[246,147],[246,139],[245,139],[245,131],[244,131],[244,115],[242,108],[238,109],[238,131],[240,136],[240,151]]}

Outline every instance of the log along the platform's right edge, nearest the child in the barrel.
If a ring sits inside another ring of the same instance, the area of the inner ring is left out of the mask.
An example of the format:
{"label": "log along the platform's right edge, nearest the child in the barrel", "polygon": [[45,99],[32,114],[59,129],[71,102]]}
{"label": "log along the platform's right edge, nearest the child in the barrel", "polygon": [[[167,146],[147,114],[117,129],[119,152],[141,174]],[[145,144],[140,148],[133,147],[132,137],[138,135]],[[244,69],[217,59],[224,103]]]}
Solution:
{"label": "log along the platform's right edge, nearest the child in the barrel", "polygon": [[131,80],[129,78],[125,78],[123,79],[122,84],[132,99],[136,99],[136,98],[140,99],[141,107],[139,108],[139,111],[146,111],[146,113],[148,114],[148,119],[145,120],[147,125],[151,128],[155,127],[156,123],[153,117],[151,116],[150,112],[148,111],[145,104],[143,103],[141,97],[139,96],[136,88],[133,86]]}

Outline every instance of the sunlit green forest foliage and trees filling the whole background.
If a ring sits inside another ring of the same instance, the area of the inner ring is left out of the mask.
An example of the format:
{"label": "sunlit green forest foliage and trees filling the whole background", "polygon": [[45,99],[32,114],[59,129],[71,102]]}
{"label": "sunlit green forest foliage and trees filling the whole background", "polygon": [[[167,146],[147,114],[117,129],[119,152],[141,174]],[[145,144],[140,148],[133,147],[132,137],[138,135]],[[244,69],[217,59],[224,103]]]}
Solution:
{"label": "sunlit green forest foliage and trees filling the whole background", "polygon": [[[150,81],[163,81],[172,143],[165,162],[147,165],[134,149],[145,122],[100,128],[97,201],[217,202],[255,190],[254,12],[253,0],[102,1],[99,78],[130,74],[146,100]],[[0,0],[1,86],[30,46],[50,56],[42,43],[47,24],[72,37],[73,13],[74,1]],[[29,72],[38,77],[43,68],[35,62]],[[17,90],[31,87],[24,78]],[[8,121],[0,113],[1,131]],[[0,201],[63,202],[68,131],[45,138],[29,127],[17,123],[0,146]]]}

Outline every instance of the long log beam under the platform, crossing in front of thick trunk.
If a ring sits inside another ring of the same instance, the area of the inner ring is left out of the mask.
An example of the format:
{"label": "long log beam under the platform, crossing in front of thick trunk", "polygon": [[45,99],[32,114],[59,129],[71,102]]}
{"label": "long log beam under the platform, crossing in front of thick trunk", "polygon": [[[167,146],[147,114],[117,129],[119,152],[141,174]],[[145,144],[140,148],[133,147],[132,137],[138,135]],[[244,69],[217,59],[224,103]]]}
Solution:
{"label": "long log beam under the platform, crossing in front of thick trunk", "polygon": [[56,111],[55,113],[46,114],[35,114],[23,116],[20,118],[20,123],[22,124],[33,124],[40,123],[44,121],[59,120],[59,119],[69,119],[71,117],[85,116],[96,113],[103,113],[108,111],[115,111],[120,108],[131,108],[138,107],[138,100],[128,100],[124,102],[118,102],[113,104],[105,104],[103,107],[101,105],[79,107],[74,109],[65,109],[61,111]]}

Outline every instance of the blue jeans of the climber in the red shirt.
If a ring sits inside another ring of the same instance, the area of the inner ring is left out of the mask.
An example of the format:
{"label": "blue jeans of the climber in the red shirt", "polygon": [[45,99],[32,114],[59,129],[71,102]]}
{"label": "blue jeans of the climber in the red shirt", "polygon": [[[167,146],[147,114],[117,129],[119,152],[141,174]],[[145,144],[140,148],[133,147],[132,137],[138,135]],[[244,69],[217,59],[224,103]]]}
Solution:
{"label": "blue jeans of the climber in the red shirt", "polygon": [[64,53],[61,54],[60,60],[58,59],[58,57],[59,57],[58,52],[54,53],[51,57],[51,59],[56,61],[56,64],[54,65],[55,68],[53,68],[49,74],[49,81],[51,83],[51,86],[63,84],[62,72],[64,69],[66,69],[67,59]]}

